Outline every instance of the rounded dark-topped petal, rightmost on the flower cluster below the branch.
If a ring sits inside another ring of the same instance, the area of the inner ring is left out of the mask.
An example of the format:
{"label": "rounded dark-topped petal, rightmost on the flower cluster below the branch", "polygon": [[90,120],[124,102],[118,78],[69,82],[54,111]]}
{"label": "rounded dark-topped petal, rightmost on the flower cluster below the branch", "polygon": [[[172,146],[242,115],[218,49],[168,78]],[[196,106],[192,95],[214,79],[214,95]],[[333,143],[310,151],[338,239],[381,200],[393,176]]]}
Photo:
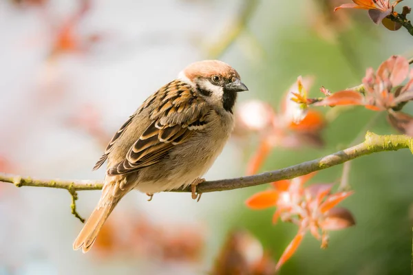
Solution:
{"label": "rounded dark-topped petal, rightmost on the flower cluster below the branch", "polygon": [[351,212],[346,208],[332,208],[326,212],[325,217],[321,223],[323,230],[341,230],[356,224]]}

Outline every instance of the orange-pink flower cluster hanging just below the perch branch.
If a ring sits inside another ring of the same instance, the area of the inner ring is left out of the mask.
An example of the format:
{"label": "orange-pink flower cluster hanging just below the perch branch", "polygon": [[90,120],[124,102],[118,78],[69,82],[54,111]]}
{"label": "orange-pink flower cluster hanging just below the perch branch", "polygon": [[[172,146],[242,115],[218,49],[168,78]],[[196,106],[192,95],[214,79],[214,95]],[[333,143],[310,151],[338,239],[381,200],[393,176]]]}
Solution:
{"label": "orange-pink flower cluster hanging just below the perch branch", "polygon": [[290,180],[273,182],[273,188],[258,192],[246,200],[252,209],[275,207],[273,223],[277,219],[299,226],[297,235],[290,242],[277,263],[277,270],[295,253],[306,232],[321,241],[321,248],[328,246],[328,230],[341,230],[354,225],[352,214],[346,208],[336,208],[352,192],[331,193],[332,184],[304,184],[315,173]]}

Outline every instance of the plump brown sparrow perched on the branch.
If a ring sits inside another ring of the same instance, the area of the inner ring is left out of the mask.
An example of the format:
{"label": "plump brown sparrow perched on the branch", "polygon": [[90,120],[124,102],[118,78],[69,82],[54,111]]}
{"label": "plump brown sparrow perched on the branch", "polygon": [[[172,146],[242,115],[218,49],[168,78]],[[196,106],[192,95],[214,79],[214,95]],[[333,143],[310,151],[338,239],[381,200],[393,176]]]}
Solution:
{"label": "plump brown sparrow perched on the branch", "polygon": [[[196,185],[220,155],[234,127],[237,93],[248,91],[230,65],[216,60],[188,65],[153,93],[115,133],[96,170],[107,161],[102,194],[73,243],[92,248],[120,199]],[[199,199],[199,198],[198,198]]]}

